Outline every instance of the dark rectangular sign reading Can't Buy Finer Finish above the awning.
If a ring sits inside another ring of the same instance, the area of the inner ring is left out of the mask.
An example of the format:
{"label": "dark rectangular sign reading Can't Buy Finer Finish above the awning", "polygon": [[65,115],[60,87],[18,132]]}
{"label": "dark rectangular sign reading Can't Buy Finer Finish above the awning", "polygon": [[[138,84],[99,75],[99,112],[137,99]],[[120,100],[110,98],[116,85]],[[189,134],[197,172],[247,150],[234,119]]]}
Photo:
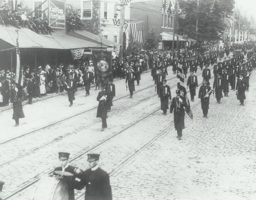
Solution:
{"label": "dark rectangular sign reading Can't Buy Finer Finish above the awning", "polygon": [[66,4],[64,0],[49,0],[49,25],[52,28],[66,27]]}

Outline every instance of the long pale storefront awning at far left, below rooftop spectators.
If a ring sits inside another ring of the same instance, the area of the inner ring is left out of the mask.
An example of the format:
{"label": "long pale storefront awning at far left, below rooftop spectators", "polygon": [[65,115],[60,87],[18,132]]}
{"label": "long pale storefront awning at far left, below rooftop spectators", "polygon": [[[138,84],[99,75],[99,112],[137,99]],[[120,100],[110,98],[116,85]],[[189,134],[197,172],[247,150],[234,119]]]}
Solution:
{"label": "long pale storefront awning at far left, below rooftop spectators", "polygon": [[0,50],[8,50],[16,47],[16,30],[19,31],[18,42],[20,48],[77,49],[108,47],[107,45],[101,46],[95,41],[88,41],[66,35],[64,31],[56,31],[52,33],[52,35],[42,35],[27,28],[17,29],[11,25],[8,25],[8,27],[0,25]]}

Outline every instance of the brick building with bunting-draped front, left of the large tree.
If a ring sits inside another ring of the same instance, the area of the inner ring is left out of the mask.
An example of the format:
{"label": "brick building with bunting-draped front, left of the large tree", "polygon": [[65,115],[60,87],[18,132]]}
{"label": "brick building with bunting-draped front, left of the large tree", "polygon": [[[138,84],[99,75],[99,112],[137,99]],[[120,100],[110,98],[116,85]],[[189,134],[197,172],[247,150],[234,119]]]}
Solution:
{"label": "brick building with bunting-draped front, left of the large tree", "polygon": [[[159,49],[172,47],[174,24],[176,25],[173,15],[174,6],[175,0],[139,0],[130,3],[130,19],[142,21],[143,42],[153,29],[156,37],[162,40],[159,43]],[[179,40],[182,45],[188,43],[181,35],[179,35]]]}

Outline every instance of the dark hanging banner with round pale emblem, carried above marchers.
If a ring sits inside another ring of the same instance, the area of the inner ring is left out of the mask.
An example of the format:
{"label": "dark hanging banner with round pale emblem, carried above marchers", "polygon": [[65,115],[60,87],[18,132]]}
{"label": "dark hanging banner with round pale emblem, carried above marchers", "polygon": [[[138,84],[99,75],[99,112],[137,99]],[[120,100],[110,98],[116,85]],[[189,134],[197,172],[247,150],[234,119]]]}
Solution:
{"label": "dark hanging banner with round pale emblem, carried above marchers", "polygon": [[112,51],[92,50],[95,76],[100,78],[101,84],[106,84],[112,75]]}

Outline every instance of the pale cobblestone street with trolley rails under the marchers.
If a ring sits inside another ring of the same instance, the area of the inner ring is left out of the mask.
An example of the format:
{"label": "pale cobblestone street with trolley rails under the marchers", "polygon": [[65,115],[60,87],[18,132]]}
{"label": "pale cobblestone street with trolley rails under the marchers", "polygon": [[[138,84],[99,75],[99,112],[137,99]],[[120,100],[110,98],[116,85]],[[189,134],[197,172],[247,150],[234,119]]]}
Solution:
{"label": "pale cobblestone street with trolley rails under the marchers", "polygon": [[[167,84],[174,97],[177,80],[170,68],[166,78],[172,78]],[[202,82],[201,74],[201,71],[196,73],[198,84]],[[142,75],[133,99],[121,98],[128,93],[122,88],[124,80],[115,82],[116,98],[120,99],[113,102],[104,132],[100,131],[101,121],[95,118],[96,110],[90,110],[98,104],[95,100],[98,92],[92,91],[86,98],[90,104],[82,104],[84,90],[78,92],[77,104],[68,113],[65,112],[70,109],[66,106],[67,97],[54,97],[61,102],[54,106],[56,110],[62,107],[63,118],[81,111],[79,106],[90,111],[22,136],[36,127],[38,118],[28,115],[22,119],[24,124],[16,127],[21,131],[13,133],[10,127],[11,136],[1,134],[0,178],[6,182],[2,197],[30,200],[37,180],[58,166],[58,151],[67,151],[71,153],[70,163],[83,170],[87,169],[86,153],[101,154],[100,167],[110,173],[114,200],[253,200],[256,198],[255,81],[253,71],[245,106],[239,105],[233,90],[229,97],[222,98],[221,104],[211,96],[208,119],[202,118],[196,96],[196,100],[190,102],[194,119],[185,118],[181,141],[176,138],[173,115],[164,116],[158,110],[160,100],[154,92],[150,73]],[[212,86],[212,79],[210,83]],[[34,112],[44,103],[44,109],[49,106],[54,110],[52,101],[53,98],[32,105]],[[24,106],[24,112],[26,108],[33,112],[30,105]],[[11,110],[1,113],[9,124],[10,113]],[[47,122],[60,119],[53,114],[54,111],[47,116]],[[27,119],[34,120],[30,127],[26,126]],[[40,126],[46,125],[40,123]],[[17,136],[20,138],[15,139]],[[12,140],[4,143],[8,139]],[[24,145],[20,145],[22,141]],[[84,189],[76,191],[76,198],[84,199]]]}

